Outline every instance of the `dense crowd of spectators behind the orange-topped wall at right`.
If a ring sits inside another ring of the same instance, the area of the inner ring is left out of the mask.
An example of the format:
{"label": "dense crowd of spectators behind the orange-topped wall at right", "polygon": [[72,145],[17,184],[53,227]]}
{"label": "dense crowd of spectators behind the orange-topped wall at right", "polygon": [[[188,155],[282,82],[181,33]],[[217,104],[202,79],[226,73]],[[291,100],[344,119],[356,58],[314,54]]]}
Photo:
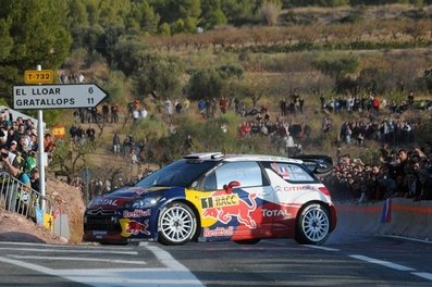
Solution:
{"label": "dense crowd of spectators behind the orange-topped wall at right", "polygon": [[340,155],[323,179],[338,200],[373,202],[391,197],[432,200],[432,144],[414,149],[381,149],[378,164]]}

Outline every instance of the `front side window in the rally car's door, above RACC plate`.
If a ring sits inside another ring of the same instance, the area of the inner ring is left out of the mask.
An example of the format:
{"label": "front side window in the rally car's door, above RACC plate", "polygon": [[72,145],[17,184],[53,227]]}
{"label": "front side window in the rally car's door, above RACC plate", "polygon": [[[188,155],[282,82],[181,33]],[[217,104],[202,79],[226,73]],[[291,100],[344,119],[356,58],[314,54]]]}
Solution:
{"label": "front side window in the rally car's door, above RACC plate", "polygon": [[[215,170],[217,189],[237,180],[242,187],[261,186],[261,169],[256,162],[229,162]],[[206,180],[207,185],[207,180]]]}

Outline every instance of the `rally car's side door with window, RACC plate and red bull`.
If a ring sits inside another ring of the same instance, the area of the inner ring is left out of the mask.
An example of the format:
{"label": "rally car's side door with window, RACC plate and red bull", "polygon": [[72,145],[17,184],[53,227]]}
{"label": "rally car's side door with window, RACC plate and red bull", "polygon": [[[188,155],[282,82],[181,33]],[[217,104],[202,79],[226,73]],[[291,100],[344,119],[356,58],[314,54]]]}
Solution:
{"label": "rally car's side door with window, RACC plate and red bull", "polygon": [[210,228],[231,228],[233,240],[270,235],[271,219],[261,207],[273,201],[273,190],[258,162],[225,162],[206,175],[202,189],[214,190],[201,199],[202,220],[214,221]]}

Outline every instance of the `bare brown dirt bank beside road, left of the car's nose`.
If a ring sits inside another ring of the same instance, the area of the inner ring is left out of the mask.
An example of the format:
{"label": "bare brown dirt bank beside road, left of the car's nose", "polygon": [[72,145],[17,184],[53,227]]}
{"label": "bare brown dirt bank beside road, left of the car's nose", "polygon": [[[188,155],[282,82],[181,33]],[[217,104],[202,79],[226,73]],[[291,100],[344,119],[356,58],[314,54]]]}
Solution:
{"label": "bare brown dirt bank beside road, left of the car's nose", "polygon": [[47,197],[67,214],[71,238],[67,240],[54,235],[16,213],[0,209],[0,241],[78,244],[83,238],[83,214],[85,210],[82,192],[58,179],[48,179]]}

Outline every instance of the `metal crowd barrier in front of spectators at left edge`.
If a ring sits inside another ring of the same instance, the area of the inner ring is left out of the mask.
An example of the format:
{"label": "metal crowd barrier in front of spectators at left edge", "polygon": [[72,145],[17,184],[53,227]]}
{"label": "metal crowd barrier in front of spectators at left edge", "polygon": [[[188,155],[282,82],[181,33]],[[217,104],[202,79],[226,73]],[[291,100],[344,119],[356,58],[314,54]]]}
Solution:
{"label": "metal crowd barrier in front of spectators at left edge", "polygon": [[0,208],[38,222],[37,211],[40,211],[41,207],[45,207],[41,214],[41,224],[44,224],[44,212],[52,215],[55,211],[52,201],[9,173],[0,172]]}

